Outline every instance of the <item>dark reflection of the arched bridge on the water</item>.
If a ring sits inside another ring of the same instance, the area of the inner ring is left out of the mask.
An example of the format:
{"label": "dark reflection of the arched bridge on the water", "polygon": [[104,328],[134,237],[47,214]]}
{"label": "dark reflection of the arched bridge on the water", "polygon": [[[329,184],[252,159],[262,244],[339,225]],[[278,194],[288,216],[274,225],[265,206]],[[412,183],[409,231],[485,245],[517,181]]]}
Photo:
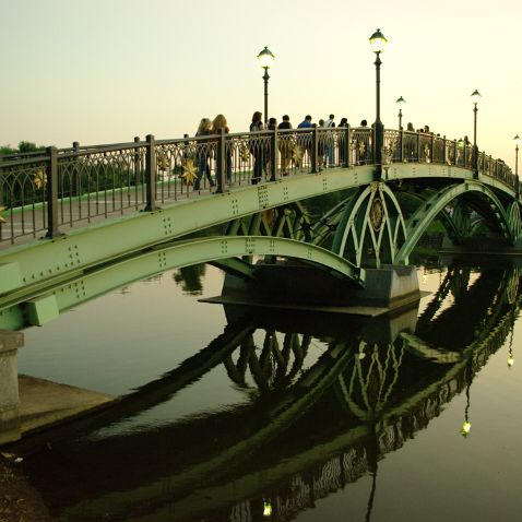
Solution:
{"label": "dark reflection of the arched bridge on the water", "polygon": [[[76,428],[67,428],[63,437],[52,436],[60,443],[50,452],[41,451],[45,438],[22,443],[29,474],[57,511],[82,520],[102,513],[112,520],[129,513],[135,520],[152,513],[252,520],[263,502],[277,520],[288,520],[368,473],[371,509],[379,461],[426,428],[509,339],[519,273],[488,271],[472,284],[467,274],[450,270],[417,321],[413,310],[388,328],[331,318],[322,323],[320,316],[238,319],[229,310],[232,322],[206,348],[112,411],[83,420],[78,429],[90,436],[78,439]],[[452,328],[455,315],[465,328]],[[310,366],[310,343],[319,341],[325,349]],[[118,430],[122,419],[220,364],[246,390],[246,404],[143,431]]]}

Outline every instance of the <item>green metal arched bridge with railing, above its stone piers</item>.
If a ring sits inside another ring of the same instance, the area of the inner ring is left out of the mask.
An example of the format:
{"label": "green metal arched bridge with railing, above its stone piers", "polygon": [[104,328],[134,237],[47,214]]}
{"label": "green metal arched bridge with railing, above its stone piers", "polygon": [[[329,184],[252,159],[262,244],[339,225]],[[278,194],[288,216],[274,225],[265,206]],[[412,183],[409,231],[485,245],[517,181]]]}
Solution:
{"label": "green metal arched bridge with railing, above its stone piers", "polygon": [[519,239],[519,179],[502,161],[430,133],[375,143],[348,126],[3,156],[0,329],[201,262],[254,280],[258,257],[293,259],[364,286],[365,269],[408,264],[435,220],[454,244]]}

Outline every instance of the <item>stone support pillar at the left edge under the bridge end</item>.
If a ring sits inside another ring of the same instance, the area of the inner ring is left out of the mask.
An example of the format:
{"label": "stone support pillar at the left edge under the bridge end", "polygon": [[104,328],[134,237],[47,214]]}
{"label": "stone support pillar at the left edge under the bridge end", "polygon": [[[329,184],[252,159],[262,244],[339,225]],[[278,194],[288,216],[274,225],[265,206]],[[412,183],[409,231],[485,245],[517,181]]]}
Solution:
{"label": "stone support pillar at the left edge under the bridge end", "polygon": [[0,330],[0,444],[20,439],[16,353],[23,344],[23,333]]}

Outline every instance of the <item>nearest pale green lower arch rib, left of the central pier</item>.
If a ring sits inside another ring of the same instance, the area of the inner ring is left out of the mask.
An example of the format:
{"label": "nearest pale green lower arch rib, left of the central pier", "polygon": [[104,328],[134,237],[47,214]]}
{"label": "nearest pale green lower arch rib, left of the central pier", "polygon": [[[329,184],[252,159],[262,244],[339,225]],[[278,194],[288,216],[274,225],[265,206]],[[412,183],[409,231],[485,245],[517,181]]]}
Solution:
{"label": "nearest pale green lower arch rib, left of the central pier", "polygon": [[[348,277],[360,285],[364,283],[364,270],[316,245],[270,236],[202,237],[164,244],[132,257],[93,266],[90,272],[75,274],[50,288],[20,295],[15,302],[1,310],[0,329],[16,330],[27,324],[44,324],[63,310],[167,270],[220,260],[226,263],[230,258],[262,254],[299,259],[339,277]],[[249,275],[248,270],[239,264],[232,265],[230,270],[244,270],[244,275]],[[38,315],[39,304],[46,310],[45,318]],[[54,313],[49,315],[49,310]]]}

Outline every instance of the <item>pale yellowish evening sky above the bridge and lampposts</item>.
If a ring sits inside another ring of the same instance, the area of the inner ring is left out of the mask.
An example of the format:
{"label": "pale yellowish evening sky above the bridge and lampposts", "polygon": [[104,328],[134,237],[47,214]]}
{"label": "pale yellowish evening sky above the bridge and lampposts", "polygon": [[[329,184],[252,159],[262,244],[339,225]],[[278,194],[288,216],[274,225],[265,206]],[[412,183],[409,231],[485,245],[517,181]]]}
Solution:
{"label": "pale yellowish evening sky above the bridge and lampposts", "polygon": [[180,138],[218,112],[246,131],[263,110],[264,46],[269,116],[371,123],[379,27],[384,126],[403,96],[404,126],[473,139],[477,88],[478,147],[514,168],[520,0],[0,0],[0,16],[2,145]]}

